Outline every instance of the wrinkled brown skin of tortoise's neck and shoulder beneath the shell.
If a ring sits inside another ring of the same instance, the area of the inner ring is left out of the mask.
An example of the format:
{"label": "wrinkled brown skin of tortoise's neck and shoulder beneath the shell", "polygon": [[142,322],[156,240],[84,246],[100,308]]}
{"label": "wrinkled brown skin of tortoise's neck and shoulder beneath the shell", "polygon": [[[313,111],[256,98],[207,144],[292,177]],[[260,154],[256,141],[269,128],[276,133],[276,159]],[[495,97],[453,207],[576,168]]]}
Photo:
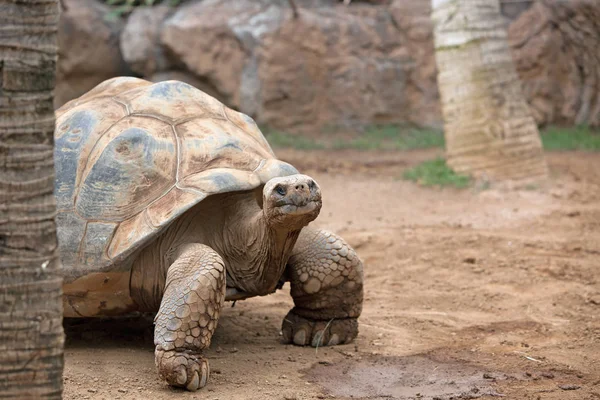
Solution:
{"label": "wrinkled brown skin of tortoise's neck and shoulder beneath the shell", "polygon": [[177,219],[134,261],[131,295],[142,309],[158,310],[176,249],[188,243],[210,246],[225,261],[227,287],[241,297],[276,290],[300,234],[272,226],[252,192],[215,195]]}

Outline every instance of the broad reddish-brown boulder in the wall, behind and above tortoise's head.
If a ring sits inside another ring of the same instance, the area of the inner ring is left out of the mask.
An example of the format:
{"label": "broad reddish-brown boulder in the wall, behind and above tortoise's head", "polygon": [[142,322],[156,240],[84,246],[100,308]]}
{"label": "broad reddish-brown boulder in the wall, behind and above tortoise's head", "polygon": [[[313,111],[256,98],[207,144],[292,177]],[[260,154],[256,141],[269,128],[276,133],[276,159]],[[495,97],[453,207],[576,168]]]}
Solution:
{"label": "broad reddish-brown boulder in the wall, behind and above tortoise's head", "polygon": [[410,120],[415,66],[387,8],[300,8],[259,48],[259,121],[311,131]]}

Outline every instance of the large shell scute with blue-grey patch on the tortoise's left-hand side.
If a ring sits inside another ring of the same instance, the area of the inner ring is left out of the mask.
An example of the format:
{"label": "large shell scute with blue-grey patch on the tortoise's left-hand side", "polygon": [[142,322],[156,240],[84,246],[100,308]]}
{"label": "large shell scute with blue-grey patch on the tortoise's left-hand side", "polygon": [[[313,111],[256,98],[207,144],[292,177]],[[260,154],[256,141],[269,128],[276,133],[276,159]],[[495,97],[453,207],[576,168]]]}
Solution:
{"label": "large shell scute with blue-grey patch on the tortoise's left-hand side", "polygon": [[123,221],[175,185],[177,143],[170,125],[128,117],[97,141],[75,207],[86,219]]}

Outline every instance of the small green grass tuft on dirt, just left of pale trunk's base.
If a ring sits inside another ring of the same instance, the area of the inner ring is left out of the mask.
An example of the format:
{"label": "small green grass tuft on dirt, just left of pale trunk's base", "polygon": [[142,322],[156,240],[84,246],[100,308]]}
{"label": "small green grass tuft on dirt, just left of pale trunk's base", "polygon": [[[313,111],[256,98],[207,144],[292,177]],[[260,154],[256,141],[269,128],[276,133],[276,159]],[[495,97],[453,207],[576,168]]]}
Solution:
{"label": "small green grass tuft on dirt, just left of pale trunk's base", "polygon": [[450,186],[464,189],[471,184],[468,176],[455,173],[441,157],[405,170],[403,178],[423,186]]}

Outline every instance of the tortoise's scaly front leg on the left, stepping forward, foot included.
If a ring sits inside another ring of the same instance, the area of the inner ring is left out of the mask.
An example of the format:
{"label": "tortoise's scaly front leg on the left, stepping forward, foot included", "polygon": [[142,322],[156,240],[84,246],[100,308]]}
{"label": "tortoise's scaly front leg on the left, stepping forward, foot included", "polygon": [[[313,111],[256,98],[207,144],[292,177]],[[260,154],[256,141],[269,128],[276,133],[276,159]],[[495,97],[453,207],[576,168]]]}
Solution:
{"label": "tortoise's scaly front leg on the left, stepping forward, foot included", "polygon": [[194,391],[206,385],[208,348],[225,300],[225,265],[210,247],[176,249],[167,271],[155,318],[155,360],[159,375],[172,386]]}

